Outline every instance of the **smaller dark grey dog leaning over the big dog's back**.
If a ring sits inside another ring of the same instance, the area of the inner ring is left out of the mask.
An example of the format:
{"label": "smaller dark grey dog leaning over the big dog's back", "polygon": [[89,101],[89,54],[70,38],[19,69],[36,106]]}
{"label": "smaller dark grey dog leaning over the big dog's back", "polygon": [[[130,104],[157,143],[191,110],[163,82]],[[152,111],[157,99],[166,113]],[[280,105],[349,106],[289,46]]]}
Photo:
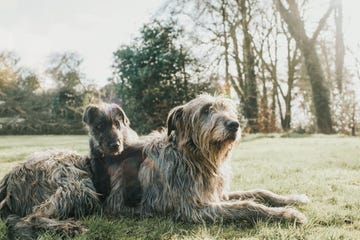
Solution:
{"label": "smaller dark grey dog leaning over the big dog's back", "polygon": [[124,206],[136,206],[142,194],[137,177],[142,153],[135,147],[138,136],[129,127],[129,119],[112,104],[88,106],[83,121],[89,129],[93,183],[101,201],[117,185],[121,188],[118,200]]}

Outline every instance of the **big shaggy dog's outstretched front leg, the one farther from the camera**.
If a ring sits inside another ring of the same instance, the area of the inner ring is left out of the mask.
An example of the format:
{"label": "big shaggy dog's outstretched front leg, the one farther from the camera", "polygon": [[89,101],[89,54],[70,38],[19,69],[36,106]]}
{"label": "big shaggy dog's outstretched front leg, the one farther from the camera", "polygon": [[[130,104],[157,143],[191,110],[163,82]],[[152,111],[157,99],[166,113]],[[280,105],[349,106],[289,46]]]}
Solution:
{"label": "big shaggy dog's outstretched front leg, the one farther from the camera", "polygon": [[257,202],[265,203],[273,207],[281,207],[294,204],[305,204],[310,199],[302,195],[281,196],[268,190],[256,189],[250,191],[230,192],[224,195],[227,200],[246,200],[252,199]]}

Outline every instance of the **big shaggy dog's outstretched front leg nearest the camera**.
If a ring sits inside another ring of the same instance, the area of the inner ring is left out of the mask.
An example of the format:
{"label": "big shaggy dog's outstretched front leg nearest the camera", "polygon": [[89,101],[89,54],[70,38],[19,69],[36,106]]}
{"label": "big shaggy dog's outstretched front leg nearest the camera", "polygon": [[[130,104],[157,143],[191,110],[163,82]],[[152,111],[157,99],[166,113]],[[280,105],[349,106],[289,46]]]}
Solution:
{"label": "big shaggy dog's outstretched front leg nearest the camera", "polygon": [[[241,221],[255,223],[258,220],[285,220],[306,223],[304,214],[293,208],[267,207],[252,201],[211,203],[195,214],[200,221]],[[194,215],[193,215],[194,216]],[[191,218],[191,216],[189,216]]]}

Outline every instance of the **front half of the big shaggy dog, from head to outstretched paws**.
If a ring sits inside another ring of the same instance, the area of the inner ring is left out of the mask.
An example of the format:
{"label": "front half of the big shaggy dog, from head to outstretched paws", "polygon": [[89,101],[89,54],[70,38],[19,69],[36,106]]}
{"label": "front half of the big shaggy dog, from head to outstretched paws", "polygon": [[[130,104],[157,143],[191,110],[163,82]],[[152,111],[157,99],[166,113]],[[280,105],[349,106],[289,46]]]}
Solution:
{"label": "front half of the big shaggy dog, from head to outstretched paws", "polygon": [[[138,178],[143,193],[141,204],[133,212],[141,216],[170,215],[187,222],[306,222],[301,212],[284,207],[306,203],[305,195],[228,191],[228,160],[239,137],[237,112],[228,99],[201,95],[174,108],[167,130],[151,134],[140,144],[143,162]],[[112,182],[105,210],[113,215],[127,214],[121,201],[122,186],[116,179]]]}

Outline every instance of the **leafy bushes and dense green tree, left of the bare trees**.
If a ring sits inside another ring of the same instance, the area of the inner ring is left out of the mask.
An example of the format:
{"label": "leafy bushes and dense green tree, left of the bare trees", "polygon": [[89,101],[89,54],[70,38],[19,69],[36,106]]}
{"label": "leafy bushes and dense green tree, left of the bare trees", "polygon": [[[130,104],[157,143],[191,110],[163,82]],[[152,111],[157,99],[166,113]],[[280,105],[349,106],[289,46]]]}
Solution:
{"label": "leafy bushes and dense green tree, left of the bare trees", "polygon": [[114,52],[114,78],[101,90],[82,84],[76,53],[51,56],[46,74],[53,87],[46,90],[35,74],[17,66],[16,56],[3,53],[11,64],[4,63],[0,79],[0,133],[84,133],[82,111],[100,100],[121,104],[139,133],[164,126],[172,107],[211,92],[211,82],[199,79],[201,65],[178,44],[180,34],[173,24],[144,26],[133,44]]}

